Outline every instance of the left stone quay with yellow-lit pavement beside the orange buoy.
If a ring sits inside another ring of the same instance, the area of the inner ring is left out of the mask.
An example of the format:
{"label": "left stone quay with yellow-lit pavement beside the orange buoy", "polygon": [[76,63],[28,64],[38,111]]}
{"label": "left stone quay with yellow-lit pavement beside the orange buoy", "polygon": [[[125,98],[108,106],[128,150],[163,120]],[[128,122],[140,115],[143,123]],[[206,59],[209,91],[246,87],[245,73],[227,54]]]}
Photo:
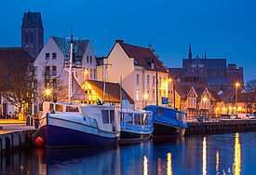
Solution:
{"label": "left stone quay with yellow-lit pavement beside the orange buoy", "polygon": [[31,146],[30,137],[36,130],[34,126],[26,126],[25,121],[0,119],[0,154],[7,155]]}

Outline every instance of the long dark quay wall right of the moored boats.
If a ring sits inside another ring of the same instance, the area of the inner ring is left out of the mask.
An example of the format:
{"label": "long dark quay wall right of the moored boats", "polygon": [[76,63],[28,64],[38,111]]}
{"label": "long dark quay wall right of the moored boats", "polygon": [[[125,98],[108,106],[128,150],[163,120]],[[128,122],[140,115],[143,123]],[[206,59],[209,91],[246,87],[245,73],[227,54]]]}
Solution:
{"label": "long dark quay wall right of the moored boats", "polygon": [[256,119],[222,119],[204,122],[188,121],[185,135],[222,134],[236,131],[256,130]]}

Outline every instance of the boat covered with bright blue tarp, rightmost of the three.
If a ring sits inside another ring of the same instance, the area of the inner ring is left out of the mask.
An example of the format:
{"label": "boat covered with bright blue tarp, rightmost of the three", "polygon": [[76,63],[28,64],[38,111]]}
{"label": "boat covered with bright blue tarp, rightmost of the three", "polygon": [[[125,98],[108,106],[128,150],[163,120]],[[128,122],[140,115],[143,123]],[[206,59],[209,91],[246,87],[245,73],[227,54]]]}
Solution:
{"label": "boat covered with bright blue tarp, rightmost of the three", "polygon": [[153,138],[182,137],[187,128],[186,114],[176,109],[148,105],[145,110],[153,112]]}

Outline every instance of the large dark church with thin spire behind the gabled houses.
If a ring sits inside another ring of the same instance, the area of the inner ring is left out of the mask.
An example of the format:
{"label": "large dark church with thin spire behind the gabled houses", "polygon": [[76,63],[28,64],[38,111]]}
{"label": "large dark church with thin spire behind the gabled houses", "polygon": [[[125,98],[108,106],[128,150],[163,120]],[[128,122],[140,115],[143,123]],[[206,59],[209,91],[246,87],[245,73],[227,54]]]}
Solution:
{"label": "large dark church with thin spire behind the gabled houses", "polygon": [[174,79],[197,76],[205,79],[209,88],[216,91],[227,92],[232,89],[236,82],[244,86],[243,68],[236,64],[226,63],[226,59],[208,59],[206,52],[204,58],[196,55],[192,58],[191,46],[189,46],[188,59],[182,59],[182,68],[169,68],[168,74]]}

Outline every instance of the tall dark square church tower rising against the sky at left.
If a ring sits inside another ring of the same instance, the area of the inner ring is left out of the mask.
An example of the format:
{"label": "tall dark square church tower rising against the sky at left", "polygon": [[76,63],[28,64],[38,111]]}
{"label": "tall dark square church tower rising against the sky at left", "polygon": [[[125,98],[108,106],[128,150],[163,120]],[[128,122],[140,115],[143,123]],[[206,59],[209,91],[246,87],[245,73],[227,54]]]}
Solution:
{"label": "tall dark square church tower rising against the sky at left", "polygon": [[21,25],[21,47],[34,59],[44,47],[44,27],[40,12],[25,12]]}

